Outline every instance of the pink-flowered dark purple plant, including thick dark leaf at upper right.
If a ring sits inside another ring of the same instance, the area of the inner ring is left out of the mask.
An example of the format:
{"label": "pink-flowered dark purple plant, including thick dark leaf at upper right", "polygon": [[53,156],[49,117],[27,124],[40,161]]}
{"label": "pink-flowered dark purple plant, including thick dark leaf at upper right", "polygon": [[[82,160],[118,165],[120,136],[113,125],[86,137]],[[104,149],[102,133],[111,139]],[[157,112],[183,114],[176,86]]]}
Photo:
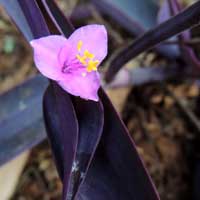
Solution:
{"label": "pink-flowered dark purple plant, including thick dark leaf at upper right", "polygon": [[[98,67],[107,54],[104,26],[74,30],[52,0],[0,3],[33,47],[36,67],[49,78],[43,116],[62,199],[158,200],[134,142],[100,87]],[[195,25],[199,7],[197,2],[145,33],[119,55],[107,77],[129,58]]]}

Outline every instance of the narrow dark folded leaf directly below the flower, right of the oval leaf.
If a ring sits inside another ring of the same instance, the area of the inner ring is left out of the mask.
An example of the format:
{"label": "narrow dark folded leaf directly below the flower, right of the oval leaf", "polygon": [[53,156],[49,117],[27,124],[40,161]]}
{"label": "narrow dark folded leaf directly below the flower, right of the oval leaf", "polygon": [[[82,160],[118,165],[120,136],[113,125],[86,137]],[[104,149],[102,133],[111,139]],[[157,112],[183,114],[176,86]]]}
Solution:
{"label": "narrow dark folded leaf directly below the flower, right of the oval leaf", "polygon": [[[74,106],[79,122],[79,140],[74,161],[77,165],[77,170],[72,172],[71,183],[73,184],[68,195],[76,194],[79,185],[87,174],[89,164],[102,135],[104,119],[101,102],[84,101],[76,98]],[[67,194],[64,196],[67,196]]]}

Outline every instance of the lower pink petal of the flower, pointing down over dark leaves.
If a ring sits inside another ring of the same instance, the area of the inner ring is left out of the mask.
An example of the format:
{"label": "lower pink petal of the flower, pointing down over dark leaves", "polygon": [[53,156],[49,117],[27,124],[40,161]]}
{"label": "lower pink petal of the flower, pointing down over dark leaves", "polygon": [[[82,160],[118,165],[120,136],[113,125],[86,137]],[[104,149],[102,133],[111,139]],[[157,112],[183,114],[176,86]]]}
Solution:
{"label": "lower pink petal of the flower, pointing down over dark leaves", "polygon": [[[84,72],[84,71],[82,71]],[[58,84],[67,92],[83,99],[98,101],[98,89],[100,87],[100,77],[98,72],[87,73],[82,76],[81,70],[76,74],[66,74],[66,79],[59,81]]]}

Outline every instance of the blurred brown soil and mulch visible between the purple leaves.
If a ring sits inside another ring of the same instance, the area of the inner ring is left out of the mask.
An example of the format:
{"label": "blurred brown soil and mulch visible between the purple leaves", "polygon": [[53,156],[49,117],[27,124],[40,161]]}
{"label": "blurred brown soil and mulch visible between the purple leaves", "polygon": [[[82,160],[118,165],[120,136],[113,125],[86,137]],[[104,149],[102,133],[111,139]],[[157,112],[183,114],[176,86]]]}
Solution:
{"label": "blurred brown soil and mulch visible between the purple leaves", "polygon": [[[102,19],[93,16],[90,22],[98,20]],[[129,41],[119,27],[114,29],[111,23],[108,29],[110,49]],[[35,73],[29,45],[0,8],[0,92]],[[192,199],[199,158],[199,93],[195,82],[148,84],[133,87],[124,103],[121,116],[162,200]],[[60,200],[61,190],[49,144],[44,141],[32,149],[12,199]]]}

